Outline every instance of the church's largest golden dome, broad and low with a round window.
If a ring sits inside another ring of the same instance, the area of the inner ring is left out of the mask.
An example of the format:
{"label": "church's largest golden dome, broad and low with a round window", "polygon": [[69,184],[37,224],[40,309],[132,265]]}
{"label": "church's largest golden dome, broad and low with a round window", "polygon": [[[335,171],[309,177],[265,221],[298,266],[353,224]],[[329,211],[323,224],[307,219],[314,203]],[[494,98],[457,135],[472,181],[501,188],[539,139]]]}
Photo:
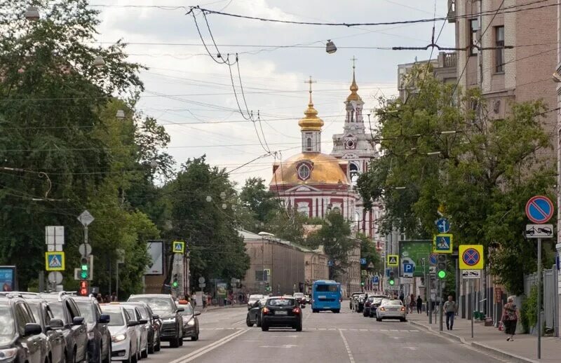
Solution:
{"label": "church's largest golden dome, broad and low with a round window", "polygon": [[[309,179],[298,178],[297,168],[308,161],[313,164]],[[339,159],[325,153],[299,153],[283,163],[276,163],[276,171],[269,185],[287,184],[340,184],[349,185],[345,172],[339,165]]]}

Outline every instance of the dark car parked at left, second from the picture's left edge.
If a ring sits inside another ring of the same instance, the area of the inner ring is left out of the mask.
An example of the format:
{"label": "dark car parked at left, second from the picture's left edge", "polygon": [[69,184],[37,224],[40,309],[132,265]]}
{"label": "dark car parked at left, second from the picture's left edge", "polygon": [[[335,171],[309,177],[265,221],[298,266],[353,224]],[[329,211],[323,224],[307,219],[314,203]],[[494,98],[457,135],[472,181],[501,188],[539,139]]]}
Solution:
{"label": "dark car parked at left, second from the picture's left edge", "polygon": [[[25,296],[24,296],[25,297]],[[33,296],[32,296],[33,297]],[[32,311],[35,321],[41,325],[47,338],[47,350],[50,363],[66,362],[67,350],[65,336],[62,334],[62,320],[55,319],[50,306],[43,299],[25,299]]]}

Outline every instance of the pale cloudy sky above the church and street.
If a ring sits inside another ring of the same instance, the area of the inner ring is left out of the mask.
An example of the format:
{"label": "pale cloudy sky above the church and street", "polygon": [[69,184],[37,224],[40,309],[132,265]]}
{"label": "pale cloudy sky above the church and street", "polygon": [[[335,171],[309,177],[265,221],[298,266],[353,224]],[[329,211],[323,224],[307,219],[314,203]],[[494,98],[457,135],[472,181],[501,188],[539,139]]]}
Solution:
{"label": "pale cloudy sky above the church and street", "polygon": [[[99,41],[109,46],[123,39],[130,43],[130,60],[149,67],[141,74],[146,91],[139,107],[166,125],[172,138],[169,152],[177,163],[206,154],[209,163],[227,170],[265,153],[255,127],[262,142],[271,151],[280,151],[283,159],[299,152],[297,121],[306,109],[308,85],[304,81],[309,76],[317,81],[313,84],[313,102],[325,121],[322,151],[330,153],[332,134],[343,128],[351,58],[358,59],[358,93],[366,103],[365,109],[372,109],[377,106],[374,97],[397,93],[397,64],[430,55],[430,51],[377,48],[426,46],[433,23],[331,27],[208,15],[219,52],[230,53],[231,58],[239,54],[239,76],[237,66],[231,71],[242,110],[245,104],[239,78],[248,109],[254,116],[259,111],[262,123],[254,127],[238,110],[229,67],[212,60],[193,16],[186,15],[181,7],[199,5],[239,15],[304,22],[394,22],[447,13],[446,0],[92,0],[90,4],[101,11]],[[168,8],[175,6],[179,8]],[[196,20],[215,55],[218,52],[198,11]],[[435,24],[437,34],[442,23]],[[325,53],[327,39],[337,45],[337,53]],[[453,25],[444,25],[438,43],[453,46]],[[231,179],[243,184],[247,177],[259,176],[269,182],[272,163],[271,156],[261,158],[234,170]]]}

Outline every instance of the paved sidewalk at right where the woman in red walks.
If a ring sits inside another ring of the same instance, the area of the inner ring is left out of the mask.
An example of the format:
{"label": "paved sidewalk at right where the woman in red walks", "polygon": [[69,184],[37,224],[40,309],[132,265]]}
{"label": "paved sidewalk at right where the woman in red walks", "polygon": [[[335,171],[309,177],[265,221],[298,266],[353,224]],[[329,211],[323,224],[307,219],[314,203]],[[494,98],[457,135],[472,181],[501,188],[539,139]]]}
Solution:
{"label": "paved sidewalk at right where the woman in red walks", "polygon": [[471,338],[471,320],[456,317],[454,330],[446,330],[446,320],[442,327],[444,331],[439,332],[438,317],[433,324],[428,324],[428,317],[424,314],[409,314],[407,320],[410,324],[433,331],[446,338],[451,338],[459,343],[473,346],[473,348],[499,355],[512,362],[560,362],[561,340],[558,338],[541,338],[541,359],[537,359],[538,340],[530,334],[516,335],[513,342],[506,341],[506,334],[496,327],[485,327],[482,322],[474,322],[473,339]]}

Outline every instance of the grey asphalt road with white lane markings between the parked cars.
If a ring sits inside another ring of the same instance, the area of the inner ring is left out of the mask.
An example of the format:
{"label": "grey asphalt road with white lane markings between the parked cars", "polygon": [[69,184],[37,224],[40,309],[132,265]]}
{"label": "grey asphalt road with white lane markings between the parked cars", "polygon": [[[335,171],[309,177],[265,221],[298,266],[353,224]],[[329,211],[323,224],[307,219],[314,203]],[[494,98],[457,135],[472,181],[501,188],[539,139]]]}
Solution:
{"label": "grey asphalt road with white lane markings between the parked cars", "polygon": [[199,317],[199,341],[185,341],[142,359],[144,363],[327,363],[327,362],[503,362],[460,343],[421,331],[407,322],[376,322],[351,313],[312,314],[304,329],[248,328],[245,308],[212,310]]}

